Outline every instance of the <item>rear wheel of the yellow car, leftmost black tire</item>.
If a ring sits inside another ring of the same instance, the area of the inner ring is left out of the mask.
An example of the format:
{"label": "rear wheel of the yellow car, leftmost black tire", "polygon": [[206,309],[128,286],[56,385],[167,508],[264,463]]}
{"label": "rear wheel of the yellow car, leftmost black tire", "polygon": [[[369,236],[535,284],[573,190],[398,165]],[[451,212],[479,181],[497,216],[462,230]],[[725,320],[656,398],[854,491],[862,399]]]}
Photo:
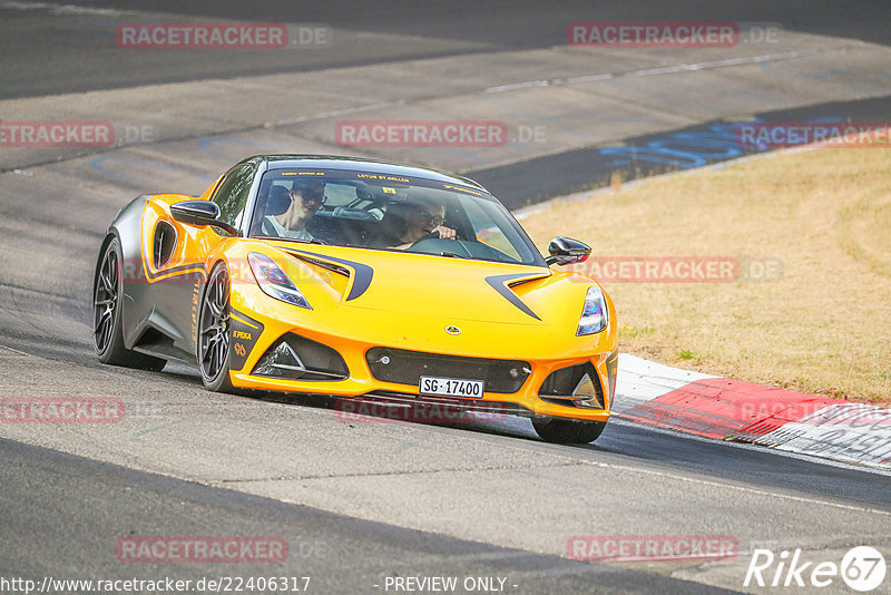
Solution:
{"label": "rear wheel of the yellow car, leftmost black tire", "polygon": [[120,254],[120,241],[112,237],[105,244],[96,266],[92,280],[92,347],[102,363],[159,372],[167,360],[124,347]]}

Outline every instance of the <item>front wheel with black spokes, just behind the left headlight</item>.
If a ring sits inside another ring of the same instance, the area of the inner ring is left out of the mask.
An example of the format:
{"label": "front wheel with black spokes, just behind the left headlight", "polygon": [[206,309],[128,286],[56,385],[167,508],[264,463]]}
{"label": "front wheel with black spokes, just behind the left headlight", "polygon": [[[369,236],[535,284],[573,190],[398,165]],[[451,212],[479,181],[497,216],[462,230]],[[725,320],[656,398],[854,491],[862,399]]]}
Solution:
{"label": "front wheel with black spokes, just behind the left headlight", "polygon": [[229,271],[221,262],[204,286],[196,341],[204,388],[214,392],[235,392],[229,379]]}

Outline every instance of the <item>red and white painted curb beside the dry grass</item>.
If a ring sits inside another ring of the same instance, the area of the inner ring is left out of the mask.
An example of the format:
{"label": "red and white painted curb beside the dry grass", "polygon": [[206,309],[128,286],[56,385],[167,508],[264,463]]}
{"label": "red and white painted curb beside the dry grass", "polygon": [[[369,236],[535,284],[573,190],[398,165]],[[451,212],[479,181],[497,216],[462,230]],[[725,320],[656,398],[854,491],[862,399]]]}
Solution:
{"label": "red and white painted curb beside the dry grass", "polygon": [[707,438],[891,470],[891,410],[619,354],[614,414]]}

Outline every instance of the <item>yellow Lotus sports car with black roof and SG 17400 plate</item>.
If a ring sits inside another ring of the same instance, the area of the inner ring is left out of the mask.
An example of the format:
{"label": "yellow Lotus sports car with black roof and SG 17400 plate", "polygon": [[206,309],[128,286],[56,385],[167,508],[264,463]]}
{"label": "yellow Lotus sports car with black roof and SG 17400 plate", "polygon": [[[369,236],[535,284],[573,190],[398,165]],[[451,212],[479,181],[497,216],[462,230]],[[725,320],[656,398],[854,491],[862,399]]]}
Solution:
{"label": "yellow Lotus sports car with black roof and SG 17400 plate", "polygon": [[199,198],[143,195],[108,228],[94,283],[102,362],[197,364],[257,389],[498,410],[590,442],[616,386],[616,313],[551,269],[474,182],[345,157],[263,155]]}

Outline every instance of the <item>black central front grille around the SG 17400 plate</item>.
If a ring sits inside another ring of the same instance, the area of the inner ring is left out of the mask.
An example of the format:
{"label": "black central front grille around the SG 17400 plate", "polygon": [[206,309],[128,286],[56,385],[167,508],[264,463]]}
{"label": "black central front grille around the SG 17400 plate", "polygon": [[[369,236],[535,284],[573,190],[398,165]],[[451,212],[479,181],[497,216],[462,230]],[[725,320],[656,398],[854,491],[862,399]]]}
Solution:
{"label": "black central front grille around the SG 17400 plate", "polygon": [[419,386],[422,375],[482,380],[486,392],[517,392],[531,369],[528,362],[461,358],[401,349],[372,348],[365,353],[371,374],[383,382]]}

